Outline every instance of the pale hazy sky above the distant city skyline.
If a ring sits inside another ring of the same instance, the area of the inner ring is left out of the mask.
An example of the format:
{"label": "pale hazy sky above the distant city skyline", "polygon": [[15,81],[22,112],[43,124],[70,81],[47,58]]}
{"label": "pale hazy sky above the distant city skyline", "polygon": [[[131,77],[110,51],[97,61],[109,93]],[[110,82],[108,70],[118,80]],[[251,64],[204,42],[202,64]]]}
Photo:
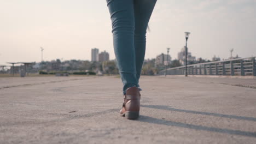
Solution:
{"label": "pale hazy sky above the distant city skyline", "polygon": [[[90,61],[94,47],[115,58],[105,0],[0,0],[0,20],[0,65],[40,62],[41,46],[44,61]],[[185,31],[196,58],[256,56],[256,0],[158,0],[149,26],[146,58],[177,58]]]}

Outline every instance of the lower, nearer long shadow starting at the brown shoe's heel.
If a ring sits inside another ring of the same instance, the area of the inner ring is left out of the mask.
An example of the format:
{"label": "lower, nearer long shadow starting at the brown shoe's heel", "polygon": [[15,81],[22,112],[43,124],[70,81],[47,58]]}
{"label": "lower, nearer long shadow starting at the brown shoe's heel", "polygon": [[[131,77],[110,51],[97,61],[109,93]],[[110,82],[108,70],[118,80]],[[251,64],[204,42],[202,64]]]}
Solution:
{"label": "lower, nearer long shadow starting at the brown shoe's heel", "polygon": [[256,133],[249,132],[249,131],[240,131],[240,130],[230,130],[230,129],[221,129],[221,128],[214,128],[214,127],[205,127],[202,125],[194,125],[194,124],[186,124],[186,123],[179,123],[179,122],[172,122],[172,121],[165,121],[163,119],[148,117],[148,116],[140,116],[138,119],[140,122],[147,122],[147,123],[154,123],[154,124],[161,124],[173,127],[182,127],[194,130],[205,130],[205,131],[213,131],[217,133],[225,133],[231,135],[242,135],[242,136],[250,136],[256,137]]}

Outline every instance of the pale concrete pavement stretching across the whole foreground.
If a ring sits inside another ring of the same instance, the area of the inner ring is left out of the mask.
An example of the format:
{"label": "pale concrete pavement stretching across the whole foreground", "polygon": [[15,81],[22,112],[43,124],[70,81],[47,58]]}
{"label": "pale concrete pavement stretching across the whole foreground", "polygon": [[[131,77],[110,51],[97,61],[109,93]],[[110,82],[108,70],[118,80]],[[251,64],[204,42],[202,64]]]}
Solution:
{"label": "pale concrete pavement stretching across the whole foreground", "polygon": [[119,116],[115,76],[0,78],[0,143],[255,143],[256,80],[142,76]]}

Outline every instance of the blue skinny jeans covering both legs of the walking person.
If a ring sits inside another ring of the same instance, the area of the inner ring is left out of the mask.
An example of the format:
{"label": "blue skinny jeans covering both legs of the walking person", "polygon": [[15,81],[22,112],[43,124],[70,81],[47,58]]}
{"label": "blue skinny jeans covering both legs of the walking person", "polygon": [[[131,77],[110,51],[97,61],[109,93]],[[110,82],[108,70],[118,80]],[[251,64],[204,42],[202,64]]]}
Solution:
{"label": "blue skinny jeans covering both legs of the walking person", "polygon": [[125,94],[129,87],[139,88],[147,26],[156,0],[106,1],[112,21],[115,58]]}

